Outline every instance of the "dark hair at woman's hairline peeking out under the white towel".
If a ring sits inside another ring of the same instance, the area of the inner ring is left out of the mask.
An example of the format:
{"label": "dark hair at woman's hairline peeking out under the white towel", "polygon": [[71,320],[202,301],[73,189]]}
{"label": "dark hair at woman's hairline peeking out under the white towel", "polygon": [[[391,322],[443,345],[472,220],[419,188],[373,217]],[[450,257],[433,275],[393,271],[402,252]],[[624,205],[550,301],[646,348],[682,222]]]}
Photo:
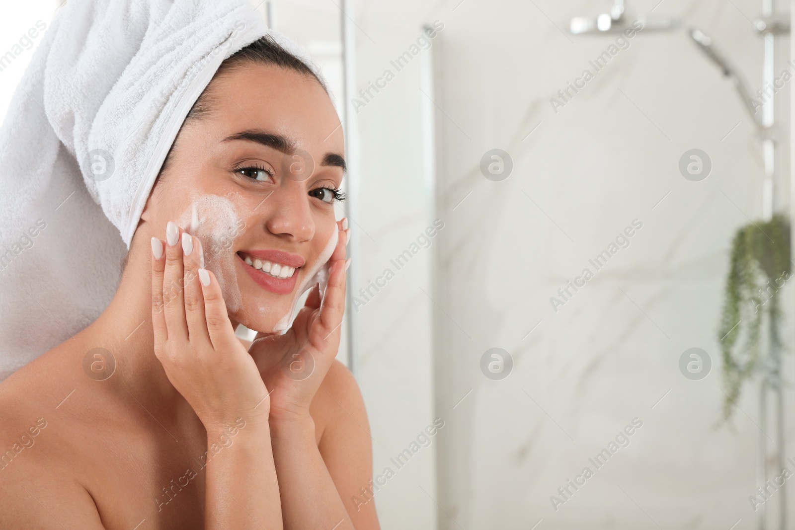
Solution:
{"label": "dark hair at woman's hairline peeking out under the white towel", "polygon": [[[223,60],[223,63],[218,67],[212,79],[224,73],[231,72],[236,68],[242,68],[246,64],[273,65],[284,68],[285,70],[292,70],[293,72],[311,76],[320,83],[320,86],[323,87],[323,90],[328,94],[328,88],[312,68],[309,68],[308,64],[304,63],[303,60],[294,56],[293,53],[287,51],[281,44],[274,41],[273,37],[270,37],[270,35],[259,37],[256,41],[241,48],[227,57],[227,59]],[[212,79],[199,95],[199,99],[196,99],[196,103],[193,103],[191,110],[188,111],[188,115],[185,116],[183,124],[188,122],[188,120],[205,118],[210,114],[213,103],[217,102],[215,95],[209,90],[212,85]],[[177,136],[179,136],[179,133],[177,133]],[[157,180],[160,180],[171,160],[171,152],[174,149],[174,145],[176,145],[176,141],[174,141],[169,148],[169,153],[165,155],[165,161],[163,161],[160,172],[157,174]]]}

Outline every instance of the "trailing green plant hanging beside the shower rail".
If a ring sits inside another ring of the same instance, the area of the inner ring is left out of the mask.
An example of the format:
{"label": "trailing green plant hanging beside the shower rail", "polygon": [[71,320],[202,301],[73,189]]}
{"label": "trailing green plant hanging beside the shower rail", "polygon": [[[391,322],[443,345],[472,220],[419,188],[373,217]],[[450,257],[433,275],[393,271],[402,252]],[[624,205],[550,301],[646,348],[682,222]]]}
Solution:
{"label": "trailing green plant hanging beside the shower rail", "polygon": [[[774,215],[764,223],[737,230],[731,244],[731,266],[718,338],[723,353],[723,420],[731,418],[743,383],[758,367],[761,353],[762,315],[770,323],[770,346],[778,351],[781,319],[778,292],[790,277],[789,220]],[[738,345],[740,335],[745,336]],[[738,346],[735,348],[735,346]]]}

